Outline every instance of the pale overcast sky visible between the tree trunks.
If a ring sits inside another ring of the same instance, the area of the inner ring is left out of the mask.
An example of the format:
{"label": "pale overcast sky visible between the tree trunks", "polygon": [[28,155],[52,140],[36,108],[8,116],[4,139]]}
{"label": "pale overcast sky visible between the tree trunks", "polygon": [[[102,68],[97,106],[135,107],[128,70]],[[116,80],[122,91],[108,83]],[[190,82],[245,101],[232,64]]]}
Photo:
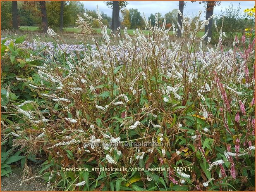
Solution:
{"label": "pale overcast sky visible between the tree trunks", "polygon": [[[108,8],[103,1],[82,1],[84,3],[84,7],[89,10],[96,9],[98,5],[100,12],[103,11],[108,16],[112,17],[112,9]],[[199,10],[204,10],[203,4],[199,4],[199,2],[190,2],[185,1],[186,4],[184,6],[184,15],[185,16],[196,16]],[[226,7],[231,5],[234,7],[238,7],[240,3],[241,12],[246,8],[252,8],[255,6],[255,1],[222,1],[220,6],[214,7],[214,14],[218,15],[221,12],[221,9],[225,10]],[[179,1],[128,1],[127,9],[138,9],[146,15],[146,18],[149,17],[151,13],[155,14],[156,12],[160,12],[162,15],[165,13],[172,11],[172,9],[179,8]],[[121,15],[120,15],[121,16]],[[205,14],[202,14],[201,19],[205,18]]]}

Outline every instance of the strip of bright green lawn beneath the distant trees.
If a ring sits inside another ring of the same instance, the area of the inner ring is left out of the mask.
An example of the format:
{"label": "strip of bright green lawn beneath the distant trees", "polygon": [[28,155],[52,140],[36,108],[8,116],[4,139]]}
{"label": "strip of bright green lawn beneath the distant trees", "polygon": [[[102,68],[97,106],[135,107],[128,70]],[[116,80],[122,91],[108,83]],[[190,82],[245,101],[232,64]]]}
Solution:
{"label": "strip of bright green lawn beneath the distant trees", "polygon": [[[39,27],[36,27],[36,26],[20,26],[19,29],[22,30],[22,31],[36,31],[38,30]],[[68,33],[79,33],[79,29],[77,28],[74,28],[74,27],[65,27],[64,28],[64,31],[65,32],[68,32]],[[93,28],[93,31],[96,33],[96,34],[100,34],[100,29],[99,28]],[[108,34],[110,34],[110,29],[107,29],[108,31]],[[133,31],[135,31],[135,29],[128,29],[128,34],[129,35],[133,35]],[[148,35],[149,31],[145,31],[145,30],[142,30],[146,35]],[[123,34],[123,30],[121,30],[121,34]],[[172,35],[172,31],[169,32],[169,35]],[[204,32],[203,31],[200,31],[198,34],[197,34],[197,37],[202,37],[204,35]]]}

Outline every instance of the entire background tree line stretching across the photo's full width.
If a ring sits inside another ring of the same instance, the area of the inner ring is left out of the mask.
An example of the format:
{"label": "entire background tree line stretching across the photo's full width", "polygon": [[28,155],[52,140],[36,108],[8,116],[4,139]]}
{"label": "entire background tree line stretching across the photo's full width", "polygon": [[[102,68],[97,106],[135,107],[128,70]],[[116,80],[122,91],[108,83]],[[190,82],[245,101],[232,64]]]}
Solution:
{"label": "entire background tree line stretching across the photo's full width", "polygon": [[[192,1],[194,2],[194,1]],[[205,7],[206,19],[213,15],[215,6],[220,5],[220,1],[199,1]],[[105,4],[112,9],[112,18],[107,14],[101,12],[103,23],[111,28],[113,33],[117,29],[127,27],[127,29],[145,28],[143,15],[138,9],[125,8],[127,1],[105,1]],[[158,19],[158,26],[163,25],[164,18],[166,19],[166,28],[169,28],[174,23],[182,26],[182,15],[186,3],[179,1],[179,9],[162,15],[161,13],[150,14],[147,18],[154,26],[156,24],[156,16]],[[178,10],[181,14],[178,13]],[[48,27],[60,29],[63,27],[76,26],[77,14],[82,15],[84,12],[91,17],[98,17],[95,10],[84,9],[84,4],[80,1],[1,1],[1,30],[8,28],[18,28],[18,26],[40,26],[43,32],[46,32]],[[121,17],[120,17],[121,13]],[[243,33],[246,26],[253,27],[254,19],[245,19],[241,14],[239,8],[230,6],[222,11],[219,17],[215,18],[220,27],[223,21],[223,30],[228,36],[228,41],[232,41],[236,33]],[[195,25],[197,17],[192,19],[192,26]],[[216,33],[212,35],[214,19],[211,19],[209,24],[205,27],[204,32],[208,32],[208,37],[215,37]],[[97,21],[91,21],[93,28],[99,28]],[[215,28],[216,29],[216,28]],[[215,30],[216,31],[216,30]],[[181,31],[178,28],[178,36],[181,36]],[[217,37],[216,37],[217,38]]]}

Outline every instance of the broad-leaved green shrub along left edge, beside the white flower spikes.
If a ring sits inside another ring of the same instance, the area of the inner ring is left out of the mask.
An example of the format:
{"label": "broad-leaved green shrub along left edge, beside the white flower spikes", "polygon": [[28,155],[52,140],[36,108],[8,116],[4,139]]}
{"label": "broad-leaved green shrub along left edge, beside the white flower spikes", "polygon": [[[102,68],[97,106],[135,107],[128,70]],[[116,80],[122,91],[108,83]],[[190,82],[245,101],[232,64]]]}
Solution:
{"label": "broad-leaved green shrub along left edge, beside the white flower spikes", "polygon": [[[40,59],[31,60],[31,55],[36,55],[32,50],[26,50],[20,45],[24,42],[25,36],[16,39],[1,40],[1,111],[5,111],[9,102],[23,102],[24,100],[36,100],[38,95],[31,91],[28,83],[23,83],[16,79],[17,76],[27,79],[28,82],[36,82],[36,76],[33,67],[40,65]],[[30,55],[31,54],[31,55]],[[12,92],[10,92],[12,90]],[[1,115],[1,176],[9,176],[12,172],[10,164],[21,163],[22,168],[25,166],[25,157],[31,161],[38,162],[35,156],[27,154],[20,155],[27,151],[21,147],[13,145],[13,137],[17,136],[14,129],[5,125],[8,123],[22,123],[22,119],[18,116],[3,113]],[[15,129],[19,129],[17,126]],[[19,149],[19,150],[18,150]]]}

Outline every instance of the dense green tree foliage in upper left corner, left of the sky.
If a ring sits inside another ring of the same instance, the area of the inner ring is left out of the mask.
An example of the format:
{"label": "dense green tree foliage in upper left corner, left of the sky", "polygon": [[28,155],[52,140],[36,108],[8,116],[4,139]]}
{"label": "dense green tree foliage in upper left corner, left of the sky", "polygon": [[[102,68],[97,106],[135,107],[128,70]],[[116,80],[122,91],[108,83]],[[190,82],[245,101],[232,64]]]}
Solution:
{"label": "dense green tree foliage in upper left corner, left of the sky", "polygon": [[[61,4],[63,3],[63,26],[76,26],[77,14],[85,12],[79,1],[13,1],[17,3],[17,23],[19,26],[41,26],[42,10],[45,5],[48,25],[60,27]],[[12,28],[12,1],[1,1],[1,29]],[[16,28],[16,27],[14,27]]]}

